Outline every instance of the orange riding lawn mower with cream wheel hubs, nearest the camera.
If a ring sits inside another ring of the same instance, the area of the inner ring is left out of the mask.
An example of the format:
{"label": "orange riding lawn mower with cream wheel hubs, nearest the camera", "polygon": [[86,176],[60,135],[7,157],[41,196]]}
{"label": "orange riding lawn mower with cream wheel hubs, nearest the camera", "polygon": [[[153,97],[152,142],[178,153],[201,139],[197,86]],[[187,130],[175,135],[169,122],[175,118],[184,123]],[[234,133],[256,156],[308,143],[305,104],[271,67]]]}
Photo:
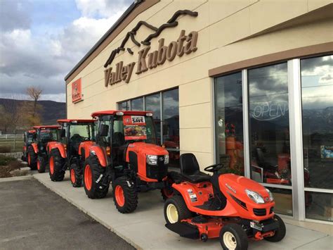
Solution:
{"label": "orange riding lawn mower with cream wheel hubs, nearest the camera", "polygon": [[174,178],[174,196],[166,199],[166,227],[190,239],[219,238],[223,249],[247,249],[249,238],[280,242],[283,220],[275,215],[268,189],[254,180],[219,173],[223,165],[200,172],[193,154],[181,155],[181,173]]}

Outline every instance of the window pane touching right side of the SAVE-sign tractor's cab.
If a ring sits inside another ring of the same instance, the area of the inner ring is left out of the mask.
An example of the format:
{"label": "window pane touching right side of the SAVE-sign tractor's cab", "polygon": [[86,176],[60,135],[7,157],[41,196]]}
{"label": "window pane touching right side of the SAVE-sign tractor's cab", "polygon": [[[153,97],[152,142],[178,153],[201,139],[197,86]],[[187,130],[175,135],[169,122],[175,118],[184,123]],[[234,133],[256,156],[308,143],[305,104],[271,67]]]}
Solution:
{"label": "window pane touching right side of the SAVE-sign tractor's cab", "polygon": [[145,111],[152,111],[157,133],[157,143],[161,144],[161,99],[159,93],[145,96]]}

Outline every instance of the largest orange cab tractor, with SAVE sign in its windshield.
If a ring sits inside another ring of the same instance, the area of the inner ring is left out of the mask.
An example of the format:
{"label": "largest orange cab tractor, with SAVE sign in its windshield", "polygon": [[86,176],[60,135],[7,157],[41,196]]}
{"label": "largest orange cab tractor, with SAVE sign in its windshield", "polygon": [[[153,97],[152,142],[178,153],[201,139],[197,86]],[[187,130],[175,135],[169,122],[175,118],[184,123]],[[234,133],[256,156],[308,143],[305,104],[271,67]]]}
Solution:
{"label": "largest orange cab tractor, with SAVE sign in its windshield", "polygon": [[91,199],[106,196],[110,182],[115,206],[131,213],[138,204],[138,192],[169,187],[169,153],[157,145],[152,113],[146,111],[100,111],[96,144],[83,146],[84,189]]}

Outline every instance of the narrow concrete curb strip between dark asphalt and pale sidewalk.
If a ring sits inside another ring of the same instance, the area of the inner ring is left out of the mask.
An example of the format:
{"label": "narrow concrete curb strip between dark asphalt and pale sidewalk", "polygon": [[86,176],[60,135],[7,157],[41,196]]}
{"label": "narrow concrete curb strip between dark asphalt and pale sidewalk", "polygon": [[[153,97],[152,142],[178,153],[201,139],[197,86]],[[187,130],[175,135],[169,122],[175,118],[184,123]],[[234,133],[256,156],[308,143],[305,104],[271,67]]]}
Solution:
{"label": "narrow concrete curb strip between dark asphalt and pale sidewalk", "polygon": [[[34,175],[31,175],[31,177],[34,177]],[[69,199],[67,196],[61,194],[61,192],[58,192],[58,190],[55,190],[53,188],[51,188],[51,186],[49,186],[46,182],[44,182],[43,180],[39,180],[38,178],[34,177],[35,180],[38,180],[42,185],[44,185],[47,189],[51,190],[52,192],[54,192],[55,194],[58,194],[61,198],[65,199],[66,201],[68,201],[70,204],[72,204],[73,206],[75,206],[76,208],[78,208],[80,211],[82,211],[83,213],[85,213],[86,215],[89,215],[89,217],[93,218],[93,220],[96,220],[98,223],[100,223],[100,225],[103,225],[104,227],[106,227],[108,230],[110,230],[111,232],[115,233],[115,235],[119,236],[120,238],[124,239],[125,242],[129,243],[131,246],[133,246],[135,249],[143,249],[141,246],[139,246],[138,244],[136,244],[135,242],[133,242],[131,239],[129,239],[128,237],[122,235],[122,233],[117,232],[117,230],[115,230],[115,228],[110,227],[110,225],[107,225],[103,220],[100,220],[98,217],[96,217],[95,215],[93,215],[92,213],[90,213],[89,211],[86,211],[85,208],[79,206],[79,204],[75,203],[74,201],[72,201],[71,199]],[[51,181],[51,180],[50,180]]]}

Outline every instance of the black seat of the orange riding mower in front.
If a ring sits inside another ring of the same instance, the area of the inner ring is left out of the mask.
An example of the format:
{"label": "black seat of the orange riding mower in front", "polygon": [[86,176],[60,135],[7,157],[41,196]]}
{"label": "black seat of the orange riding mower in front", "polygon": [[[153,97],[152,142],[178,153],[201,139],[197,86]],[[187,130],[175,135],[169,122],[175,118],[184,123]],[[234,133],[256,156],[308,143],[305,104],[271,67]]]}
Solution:
{"label": "black seat of the orange riding mower in front", "polygon": [[181,175],[188,182],[208,182],[211,178],[210,175],[200,172],[199,163],[197,158],[192,153],[181,155]]}

